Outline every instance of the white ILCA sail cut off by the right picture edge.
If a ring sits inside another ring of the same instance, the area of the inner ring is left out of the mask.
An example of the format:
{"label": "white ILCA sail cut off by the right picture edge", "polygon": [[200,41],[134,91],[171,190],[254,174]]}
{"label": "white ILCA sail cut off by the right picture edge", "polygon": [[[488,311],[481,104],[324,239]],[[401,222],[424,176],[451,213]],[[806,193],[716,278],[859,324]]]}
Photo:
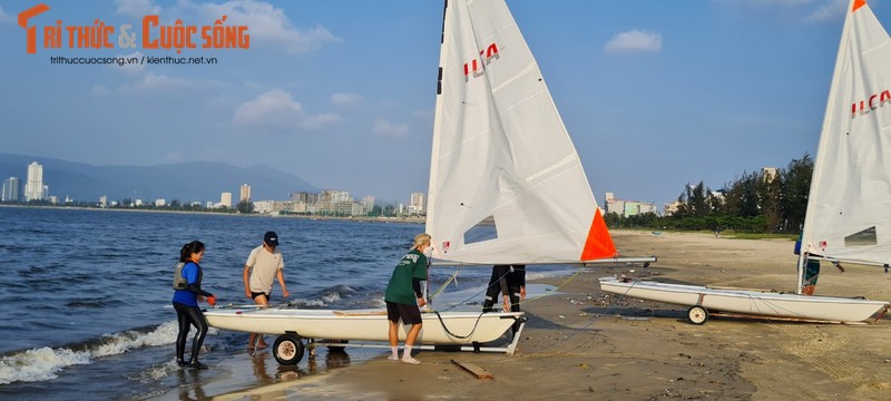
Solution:
{"label": "white ILCA sail cut off by the right picture edge", "polygon": [[891,39],[864,0],[842,30],[802,235],[802,252],[891,263]]}

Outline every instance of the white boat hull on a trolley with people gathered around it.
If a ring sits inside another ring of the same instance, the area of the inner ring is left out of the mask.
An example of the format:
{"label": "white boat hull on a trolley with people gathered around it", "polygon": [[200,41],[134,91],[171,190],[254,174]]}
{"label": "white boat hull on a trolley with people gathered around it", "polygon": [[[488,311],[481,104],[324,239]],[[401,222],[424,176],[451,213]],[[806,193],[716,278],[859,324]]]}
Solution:
{"label": "white boat hull on a trolley with people gathered around it", "polygon": [[[301,309],[215,307],[204,312],[217,329],[281,335],[296,333],[304,339],[388,341],[386,312],[381,310],[332,311]],[[523,312],[421,313],[421,344],[471,344],[498,340]],[[400,323],[399,339],[411,326]]]}

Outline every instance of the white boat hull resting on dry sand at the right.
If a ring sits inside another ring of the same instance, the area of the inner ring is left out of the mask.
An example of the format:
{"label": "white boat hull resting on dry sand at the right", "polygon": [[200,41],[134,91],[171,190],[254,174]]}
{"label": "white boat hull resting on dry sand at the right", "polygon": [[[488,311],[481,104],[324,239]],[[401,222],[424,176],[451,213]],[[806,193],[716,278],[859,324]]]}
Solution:
{"label": "white boat hull resting on dry sand at the right", "polygon": [[600,290],[676,305],[698,305],[709,311],[834,322],[866,321],[889,305],[887,301],[709,288],[617,277],[600,278]]}

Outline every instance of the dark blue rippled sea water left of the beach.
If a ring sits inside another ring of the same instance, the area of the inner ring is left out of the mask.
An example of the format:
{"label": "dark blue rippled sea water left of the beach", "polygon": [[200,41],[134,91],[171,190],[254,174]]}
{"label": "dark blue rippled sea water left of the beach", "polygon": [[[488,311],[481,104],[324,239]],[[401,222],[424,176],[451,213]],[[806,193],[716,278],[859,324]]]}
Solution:
{"label": "dark blue rippled sea water left of the beach", "polygon": [[[218,305],[252,302],[244,295],[244,264],[263,234],[275,231],[291,296],[283,299],[276,282],[273,304],[368,309],[383,306],[393,266],[424,228],[39,207],[0,207],[0,399],[29,400],[150,399],[202,380],[174,363],[170,285],[187,242],[206,246],[202,286]],[[434,268],[431,288],[454,272]],[[464,268],[447,292],[478,304],[489,275],[488,268]],[[235,350],[245,344],[244,333],[212,329],[202,361],[226,364],[243,358]]]}

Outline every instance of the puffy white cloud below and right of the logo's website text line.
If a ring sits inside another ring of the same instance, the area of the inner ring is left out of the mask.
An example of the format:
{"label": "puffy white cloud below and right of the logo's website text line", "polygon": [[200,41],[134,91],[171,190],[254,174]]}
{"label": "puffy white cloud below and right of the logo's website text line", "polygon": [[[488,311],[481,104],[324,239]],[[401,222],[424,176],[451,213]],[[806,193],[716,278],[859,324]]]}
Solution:
{"label": "puffy white cloud below and right of the logo's website text line", "polygon": [[242,104],[232,118],[233,124],[241,126],[305,131],[320,130],[340,120],[333,114],[306,116],[303,106],[278,88]]}

